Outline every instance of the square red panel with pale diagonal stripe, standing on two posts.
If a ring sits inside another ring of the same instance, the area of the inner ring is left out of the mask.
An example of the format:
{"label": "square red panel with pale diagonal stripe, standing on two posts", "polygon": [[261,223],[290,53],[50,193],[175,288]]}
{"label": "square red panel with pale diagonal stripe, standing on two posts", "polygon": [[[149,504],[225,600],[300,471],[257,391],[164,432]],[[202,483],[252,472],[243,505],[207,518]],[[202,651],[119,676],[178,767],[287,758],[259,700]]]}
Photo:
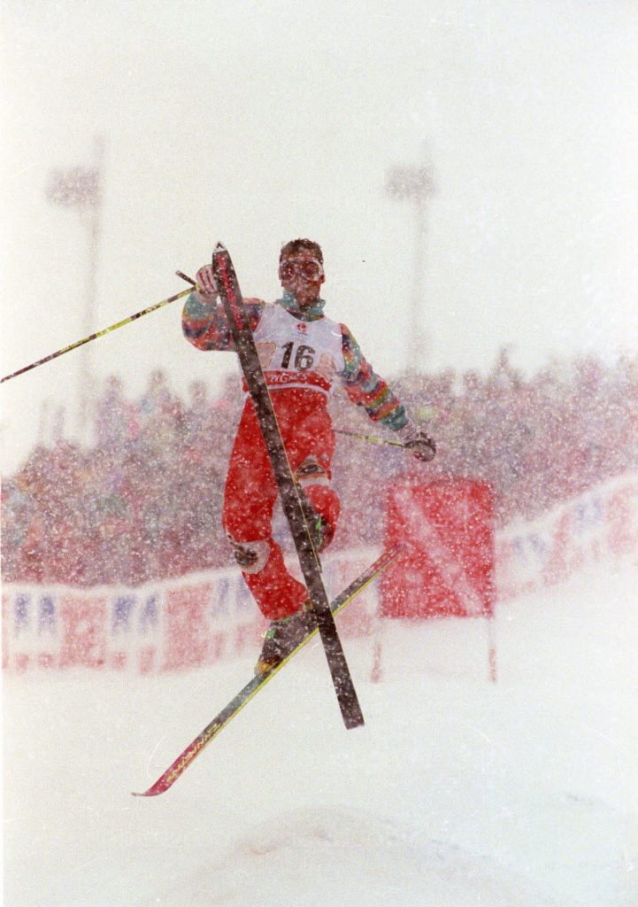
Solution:
{"label": "square red panel with pale diagonal stripe, standing on two posts", "polygon": [[401,480],[388,494],[386,545],[406,546],[382,576],[382,615],[488,615],[495,600],[494,495],[474,479]]}

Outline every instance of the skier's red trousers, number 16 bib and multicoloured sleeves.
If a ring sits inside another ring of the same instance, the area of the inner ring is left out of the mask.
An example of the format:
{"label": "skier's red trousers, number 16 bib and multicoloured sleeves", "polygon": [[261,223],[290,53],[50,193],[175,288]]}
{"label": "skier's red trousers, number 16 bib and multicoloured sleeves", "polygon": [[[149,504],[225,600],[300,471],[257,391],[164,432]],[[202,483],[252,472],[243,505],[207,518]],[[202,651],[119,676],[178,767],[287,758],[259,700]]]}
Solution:
{"label": "skier's red trousers, number 16 bib and multicoloured sleeves", "polygon": [[[333,537],[339,499],[331,485],[334,433],[328,395],[338,377],[354,403],[374,421],[398,430],[405,411],[388,385],[372,371],[348,328],[323,316],[323,300],[309,313],[287,294],[274,305],[247,300],[251,327],[266,375],[291,470],[323,524],[325,547]],[[223,310],[193,294],[182,317],[184,334],[199,349],[232,349]],[[245,388],[246,389],[246,388]],[[304,585],[285,567],[272,537],[278,489],[255,407],[247,396],[233,444],[223,521],[244,579],[266,618],[299,610]]]}

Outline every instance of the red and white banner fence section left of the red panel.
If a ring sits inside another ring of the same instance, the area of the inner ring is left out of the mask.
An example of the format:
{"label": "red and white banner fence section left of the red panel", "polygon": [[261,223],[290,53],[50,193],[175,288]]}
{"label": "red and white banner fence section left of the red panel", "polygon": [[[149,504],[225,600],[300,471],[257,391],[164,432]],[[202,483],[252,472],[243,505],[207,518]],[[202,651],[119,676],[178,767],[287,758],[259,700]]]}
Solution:
{"label": "red and white banner fence section left of the red panel", "polygon": [[[326,559],[337,595],[375,559],[343,551]],[[344,636],[369,633],[378,608],[372,584],[339,618]],[[137,589],[72,589],[5,584],[3,668],[180,671],[256,653],[267,621],[237,569],[210,571]]]}

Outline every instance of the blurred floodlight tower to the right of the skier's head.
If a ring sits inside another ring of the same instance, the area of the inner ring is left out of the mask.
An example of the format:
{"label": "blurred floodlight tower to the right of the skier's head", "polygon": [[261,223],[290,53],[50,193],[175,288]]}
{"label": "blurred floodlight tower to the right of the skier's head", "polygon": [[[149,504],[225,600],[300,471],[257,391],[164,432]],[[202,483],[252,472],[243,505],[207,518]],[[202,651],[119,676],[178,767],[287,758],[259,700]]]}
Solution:
{"label": "blurred floodlight tower to the right of the skier's head", "polygon": [[425,281],[426,214],[428,200],[432,198],[435,190],[432,167],[411,165],[391,167],[386,173],[385,190],[392,199],[411,202],[414,215],[414,277],[409,325],[410,342],[407,345],[407,370],[416,372],[425,358],[422,309]]}

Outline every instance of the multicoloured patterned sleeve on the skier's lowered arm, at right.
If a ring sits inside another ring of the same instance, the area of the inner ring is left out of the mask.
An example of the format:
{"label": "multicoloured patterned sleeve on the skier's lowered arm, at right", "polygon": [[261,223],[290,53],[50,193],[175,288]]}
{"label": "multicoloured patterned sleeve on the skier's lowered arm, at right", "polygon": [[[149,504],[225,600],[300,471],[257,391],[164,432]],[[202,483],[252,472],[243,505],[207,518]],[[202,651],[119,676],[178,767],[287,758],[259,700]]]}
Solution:
{"label": "multicoloured patterned sleeve on the skier's lowered arm, at right", "polygon": [[372,422],[381,422],[392,432],[398,431],[408,422],[401,401],[392,394],[382,377],[374,372],[350,329],[345,325],[340,327],[345,367],[339,377],[346,394],[354,404],[365,409]]}

